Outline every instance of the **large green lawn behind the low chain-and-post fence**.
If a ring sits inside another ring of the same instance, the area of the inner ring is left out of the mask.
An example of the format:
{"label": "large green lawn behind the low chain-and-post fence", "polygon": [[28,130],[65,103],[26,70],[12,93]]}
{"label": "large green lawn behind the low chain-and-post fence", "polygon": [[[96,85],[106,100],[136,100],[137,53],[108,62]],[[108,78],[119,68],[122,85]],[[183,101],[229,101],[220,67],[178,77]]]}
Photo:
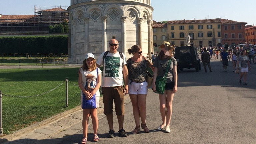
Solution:
{"label": "large green lawn behind the low chain-and-post fence", "polygon": [[10,134],[80,105],[77,73],[78,68],[0,69],[3,133]]}

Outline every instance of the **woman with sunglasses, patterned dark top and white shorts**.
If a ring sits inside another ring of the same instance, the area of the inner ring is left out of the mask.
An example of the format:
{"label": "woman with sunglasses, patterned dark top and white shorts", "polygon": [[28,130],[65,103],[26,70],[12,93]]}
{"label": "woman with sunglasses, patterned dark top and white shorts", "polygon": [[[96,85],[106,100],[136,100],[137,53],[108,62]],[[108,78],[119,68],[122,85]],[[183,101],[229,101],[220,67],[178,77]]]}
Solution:
{"label": "woman with sunglasses, patterned dark top and white shorts", "polygon": [[146,82],[146,68],[149,66],[153,71],[154,67],[149,60],[142,56],[142,49],[139,45],[134,45],[128,49],[129,54],[133,57],[127,60],[128,68],[128,94],[132,102],[132,111],[135,120],[135,129],[132,134],[140,132],[140,118],[141,128],[144,132],[149,132],[146,125],[146,97],[148,93],[148,84]]}

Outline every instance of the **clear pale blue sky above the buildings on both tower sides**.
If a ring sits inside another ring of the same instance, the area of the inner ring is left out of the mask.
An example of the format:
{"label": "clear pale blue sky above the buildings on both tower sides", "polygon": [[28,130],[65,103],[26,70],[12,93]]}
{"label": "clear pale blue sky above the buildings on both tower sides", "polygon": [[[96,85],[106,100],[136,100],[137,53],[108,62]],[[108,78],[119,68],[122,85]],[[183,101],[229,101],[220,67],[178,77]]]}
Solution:
{"label": "clear pale blue sky above the buildings on both tower sides", "polygon": [[[65,9],[70,0],[1,0],[0,14],[33,15],[35,5]],[[223,18],[256,25],[256,0],[151,0],[151,6],[153,20],[157,22]]]}

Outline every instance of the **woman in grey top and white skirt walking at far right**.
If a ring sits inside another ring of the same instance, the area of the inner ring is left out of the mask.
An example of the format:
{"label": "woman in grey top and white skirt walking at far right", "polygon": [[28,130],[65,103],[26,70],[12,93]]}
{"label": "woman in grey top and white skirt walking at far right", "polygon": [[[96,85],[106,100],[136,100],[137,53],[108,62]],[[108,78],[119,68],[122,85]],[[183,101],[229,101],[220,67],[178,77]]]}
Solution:
{"label": "woman in grey top and white skirt walking at far right", "polygon": [[239,83],[242,84],[242,77],[244,77],[244,85],[247,85],[246,83],[247,73],[251,70],[251,67],[250,67],[250,59],[247,56],[246,50],[241,50],[241,54],[238,57],[237,64],[236,64],[237,69],[239,68],[239,62],[241,62]]}

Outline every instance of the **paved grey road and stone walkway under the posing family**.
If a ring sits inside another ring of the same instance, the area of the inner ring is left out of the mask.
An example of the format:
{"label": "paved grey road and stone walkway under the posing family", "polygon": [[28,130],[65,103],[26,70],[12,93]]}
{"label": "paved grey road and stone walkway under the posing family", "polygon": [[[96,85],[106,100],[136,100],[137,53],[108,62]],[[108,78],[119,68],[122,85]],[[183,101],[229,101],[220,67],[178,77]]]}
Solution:
{"label": "paved grey road and stone walkway under the posing family", "polygon": [[[150,88],[146,103],[149,133],[142,130],[139,134],[132,134],[135,122],[128,95],[124,118],[128,136],[125,138],[118,136],[115,113],[115,137],[107,138],[107,119],[99,108],[100,139],[97,144],[255,144],[256,84],[253,78],[256,64],[251,64],[248,86],[239,84],[238,74],[232,72],[231,62],[229,64],[228,72],[223,72],[220,59],[217,59],[211,61],[211,73],[205,73],[203,67],[199,72],[184,69],[178,73],[178,92],[173,101],[170,133],[157,130],[161,124],[159,98]],[[102,101],[100,107],[103,107]],[[77,107],[0,139],[4,144],[78,144],[83,137],[82,116],[81,108]],[[87,143],[92,143],[92,139],[90,121]]]}

